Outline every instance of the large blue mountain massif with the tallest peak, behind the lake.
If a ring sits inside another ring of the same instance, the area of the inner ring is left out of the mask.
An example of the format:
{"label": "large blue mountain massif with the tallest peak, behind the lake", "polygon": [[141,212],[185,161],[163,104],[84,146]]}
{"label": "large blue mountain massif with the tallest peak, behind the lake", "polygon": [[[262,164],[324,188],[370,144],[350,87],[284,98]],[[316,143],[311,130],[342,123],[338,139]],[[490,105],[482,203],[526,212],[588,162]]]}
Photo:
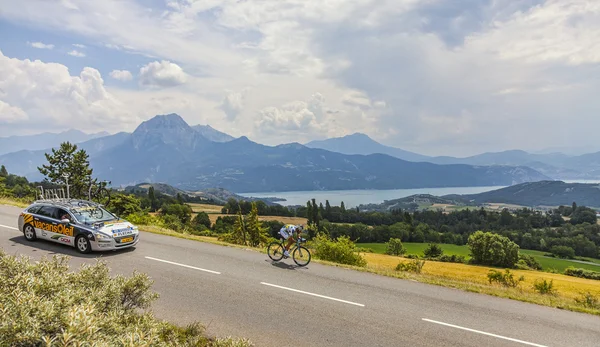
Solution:
{"label": "large blue mountain massif with the tallest peak, behind the lake", "polygon": [[[55,145],[56,147],[57,145]],[[265,146],[210,127],[191,127],[179,115],[155,116],[132,133],[81,142],[94,176],[113,185],[162,182],[179,189],[233,192],[506,186],[549,179],[525,166],[440,165],[389,154],[343,154],[299,143]],[[9,172],[41,179],[41,151],[0,156]]]}

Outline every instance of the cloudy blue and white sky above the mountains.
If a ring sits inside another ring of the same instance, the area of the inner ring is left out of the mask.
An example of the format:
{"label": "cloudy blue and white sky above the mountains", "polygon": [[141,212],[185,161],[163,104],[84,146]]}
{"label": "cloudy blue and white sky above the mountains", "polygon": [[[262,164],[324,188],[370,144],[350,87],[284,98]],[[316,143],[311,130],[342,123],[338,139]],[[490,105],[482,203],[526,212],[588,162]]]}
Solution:
{"label": "cloudy blue and white sky above the mountains", "polygon": [[0,136],[177,113],[281,143],[600,149],[597,0],[0,0]]}

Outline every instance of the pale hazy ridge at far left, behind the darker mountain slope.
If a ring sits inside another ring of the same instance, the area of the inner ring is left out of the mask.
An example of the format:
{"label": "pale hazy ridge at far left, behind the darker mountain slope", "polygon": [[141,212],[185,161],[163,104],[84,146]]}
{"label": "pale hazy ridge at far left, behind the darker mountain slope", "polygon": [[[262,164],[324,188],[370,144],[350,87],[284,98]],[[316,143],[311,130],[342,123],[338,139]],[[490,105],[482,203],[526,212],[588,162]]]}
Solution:
{"label": "pale hazy ridge at far left, behind the darker mountain slope", "polygon": [[64,141],[79,143],[107,135],[109,134],[105,131],[86,134],[79,130],[68,130],[61,133],[0,137],[0,155],[22,150],[47,149],[58,146]]}

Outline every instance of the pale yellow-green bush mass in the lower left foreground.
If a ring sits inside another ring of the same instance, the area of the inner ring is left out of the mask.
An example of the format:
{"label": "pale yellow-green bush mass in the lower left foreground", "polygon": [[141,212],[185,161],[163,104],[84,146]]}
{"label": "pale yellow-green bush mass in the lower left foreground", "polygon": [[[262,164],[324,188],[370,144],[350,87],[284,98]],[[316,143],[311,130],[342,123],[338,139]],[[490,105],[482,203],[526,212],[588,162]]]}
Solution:
{"label": "pale yellow-green bush mass in the lower left foreground", "polygon": [[193,323],[178,327],[146,311],[158,295],[147,275],[109,276],[103,262],[69,272],[67,256],[30,262],[0,251],[1,346],[225,346]]}

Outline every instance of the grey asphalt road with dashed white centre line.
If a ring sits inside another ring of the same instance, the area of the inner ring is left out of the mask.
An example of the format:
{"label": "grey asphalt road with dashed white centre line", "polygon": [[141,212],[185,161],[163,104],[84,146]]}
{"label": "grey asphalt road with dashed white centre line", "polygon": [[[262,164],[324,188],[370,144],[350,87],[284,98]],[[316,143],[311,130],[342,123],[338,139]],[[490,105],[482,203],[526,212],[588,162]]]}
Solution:
{"label": "grey asphalt road with dashed white centre line", "polygon": [[0,206],[0,248],[33,259],[104,259],[112,273],[143,271],[160,293],[156,315],[200,321],[217,336],[257,346],[600,346],[600,317],[409,280],[142,232],[132,250],[81,255],[16,230]]}

